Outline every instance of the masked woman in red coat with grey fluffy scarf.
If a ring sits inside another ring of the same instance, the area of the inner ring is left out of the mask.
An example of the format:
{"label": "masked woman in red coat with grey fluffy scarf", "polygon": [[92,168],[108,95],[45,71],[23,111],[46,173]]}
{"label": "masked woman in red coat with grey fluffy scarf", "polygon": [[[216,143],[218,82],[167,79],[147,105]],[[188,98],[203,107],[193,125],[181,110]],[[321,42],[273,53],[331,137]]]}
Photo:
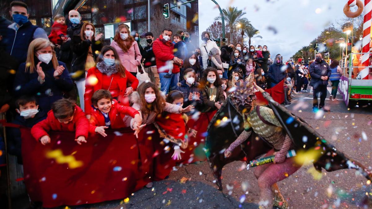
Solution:
{"label": "masked woman in red coat with grey fluffy scarf", "polygon": [[[99,89],[109,90],[121,105],[129,106],[128,96],[137,89],[138,79],[124,68],[118,58],[112,46],[105,46],[97,58],[96,66],[88,70],[84,94],[85,114],[88,119],[92,113],[92,95]],[[128,82],[131,85],[127,88]]]}

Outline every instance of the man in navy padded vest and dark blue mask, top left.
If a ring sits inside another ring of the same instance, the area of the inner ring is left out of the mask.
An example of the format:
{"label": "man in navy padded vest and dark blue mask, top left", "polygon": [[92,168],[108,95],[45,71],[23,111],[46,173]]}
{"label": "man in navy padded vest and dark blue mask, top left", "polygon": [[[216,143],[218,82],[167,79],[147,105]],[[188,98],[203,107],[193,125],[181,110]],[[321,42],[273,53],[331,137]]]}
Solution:
{"label": "man in navy padded vest and dark blue mask, top left", "polygon": [[2,41],[6,51],[16,58],[19,63],[26,62],[28,46],[33,39],[48,39],[44,29],[32,25],[28,20],[27,9],[27,4],[22,1],[12,1],[10,3],[10,15],[13,17],[14,23],[8,26],[7,33],[3,35],[4,40]]}

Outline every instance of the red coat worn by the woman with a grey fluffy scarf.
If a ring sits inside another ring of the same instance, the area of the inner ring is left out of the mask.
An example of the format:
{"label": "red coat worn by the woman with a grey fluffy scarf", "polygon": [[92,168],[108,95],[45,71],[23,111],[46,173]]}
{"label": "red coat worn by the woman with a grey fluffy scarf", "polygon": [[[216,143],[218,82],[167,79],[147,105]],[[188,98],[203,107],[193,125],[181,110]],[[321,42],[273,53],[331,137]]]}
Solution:
{"label": "red coat worn by the woman with a grey fluffy scarf", "polygon": [[[138,79],[134,77],[131,73],[129,73],[127,70],[125,70],[126,77],[121,77],[119,73],[112,74],[112,76],[108,77],[106,74],[101,73],[96,67],[92,67],[88,70],[87,79],[89,79],[90,76],[96,77],[98,82],[96,84],[92,84],[89,82],[85,83],[85,93],[84,93],[84,110],[86,115],[90,115],[92,110],[92,96],[93,93],[99,89],[102,89],[102,83],[103,79],[113,79],[116,81],[116,83],[119,84],[119,92],[120,95],[118,97],[118,100],[123,103],[122,105],[125,105],[128,103],[127,106],[129,106],[129,99],[127,97],[124,98],[124,94],[127,87],[127,81],[129,81],[131,84],[131,87],[133,88],[133,91],[137,89],[138,86]],[[93,85],[93,86],[92,86]],[[110,89],[112,90],[112,89]],[[127,100],[125,100],[127,99]],[[128,102],[125,102],[128,101]]]}

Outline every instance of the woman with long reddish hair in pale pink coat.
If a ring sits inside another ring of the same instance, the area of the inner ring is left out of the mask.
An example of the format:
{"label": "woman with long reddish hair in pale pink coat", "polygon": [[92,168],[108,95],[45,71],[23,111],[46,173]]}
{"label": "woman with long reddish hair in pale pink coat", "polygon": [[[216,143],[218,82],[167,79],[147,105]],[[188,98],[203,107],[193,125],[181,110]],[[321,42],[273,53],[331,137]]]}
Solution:
{"label": "woman with long reddish hair in pale pink coat", "polygon": [[142,56],[137,41],[131,36],[131,32],[127,25],[122,24],[118,26],[114,41],[110,46],[115,48],[115,51],[118,52],[119,60],[125,69],[136,76],[137,66],[140,65]]}

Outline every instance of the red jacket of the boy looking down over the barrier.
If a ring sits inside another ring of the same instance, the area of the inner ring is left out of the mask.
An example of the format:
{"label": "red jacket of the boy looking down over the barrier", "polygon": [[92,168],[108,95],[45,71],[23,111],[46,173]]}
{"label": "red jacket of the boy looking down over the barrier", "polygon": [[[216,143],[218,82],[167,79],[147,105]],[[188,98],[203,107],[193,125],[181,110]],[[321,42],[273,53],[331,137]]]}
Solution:
{"label": "red jacket of the boy looking down over the barrier", "polygon": [[47,119],[36,123],[36,125],[32,127],[31,134],[33,138],[39,141],[42,136],[49,136],[48,132],[51,130],[70,132],[75,131],[76,139],[79,136],[84,136],[85,139],[87,139],[89,131],[89,121],[86,118],[83,110],[81,110],[80,107],[78,107],[77,105],[75,106],[73,120],[67,124],[59,122],[58,119],[54,117],[53,111],[50,110],[48,112]]}

